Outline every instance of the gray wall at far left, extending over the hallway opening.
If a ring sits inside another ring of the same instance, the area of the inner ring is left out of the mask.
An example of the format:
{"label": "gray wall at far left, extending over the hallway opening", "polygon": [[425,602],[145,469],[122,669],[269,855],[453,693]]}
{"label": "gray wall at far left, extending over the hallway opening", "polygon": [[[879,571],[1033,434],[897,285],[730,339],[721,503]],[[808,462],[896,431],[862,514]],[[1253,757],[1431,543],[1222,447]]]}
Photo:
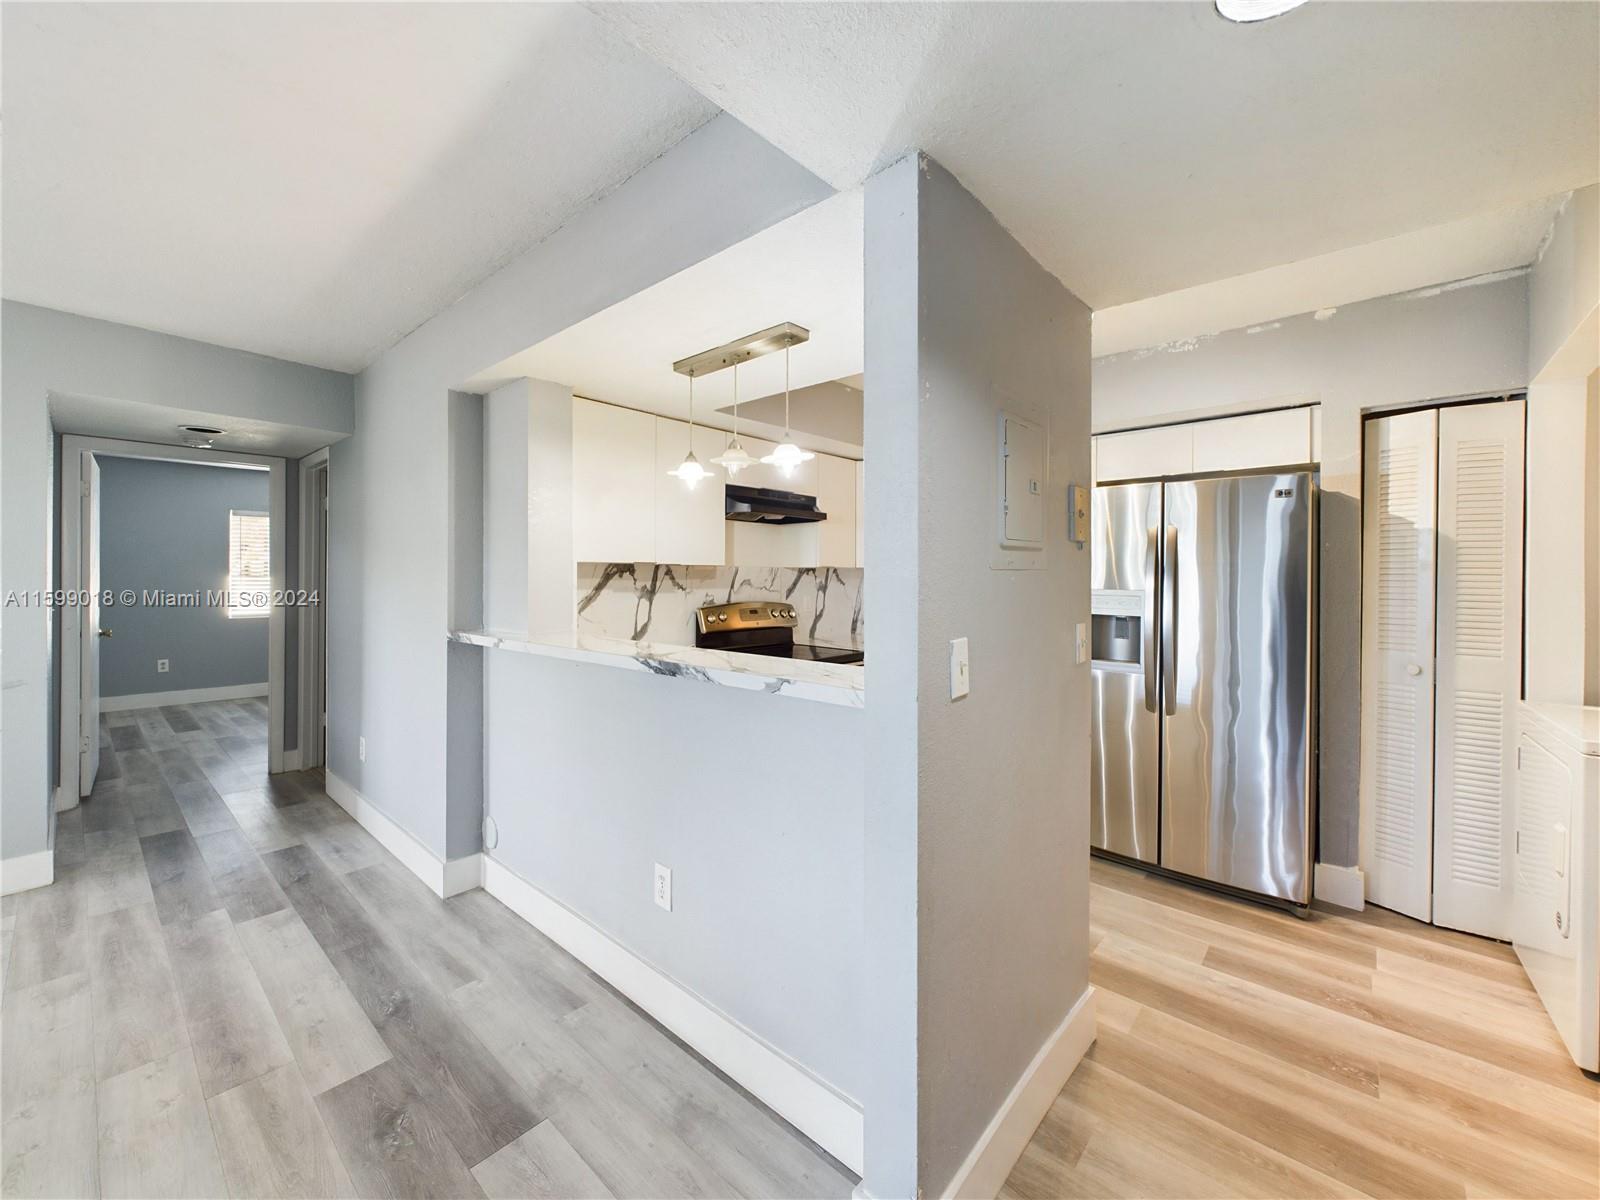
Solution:
{"label": "gray wall at far left, extending over the hallway opening", "polygon": [[[45,590],[54,578],[51,392],[326,430],[330,440],[354,429],[347,374],[5,301],[0,590]],[[11,608],[0,637],[0,854],[16,858],[51,837],[56,624],[48,610]]]}

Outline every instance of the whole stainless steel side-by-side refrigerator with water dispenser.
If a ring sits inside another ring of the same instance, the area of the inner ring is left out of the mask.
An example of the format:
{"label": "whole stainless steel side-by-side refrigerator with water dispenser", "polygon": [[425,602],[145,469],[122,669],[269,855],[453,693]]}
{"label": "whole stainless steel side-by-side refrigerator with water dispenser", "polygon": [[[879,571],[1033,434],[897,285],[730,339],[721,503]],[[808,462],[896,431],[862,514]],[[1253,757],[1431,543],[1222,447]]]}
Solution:
{"label": "whole stainless steel side-by-side refrigerator with water dispenser", "polygon": [[1317,477],[1096,488],[1093,528],[1091,845],[1307,906]]}

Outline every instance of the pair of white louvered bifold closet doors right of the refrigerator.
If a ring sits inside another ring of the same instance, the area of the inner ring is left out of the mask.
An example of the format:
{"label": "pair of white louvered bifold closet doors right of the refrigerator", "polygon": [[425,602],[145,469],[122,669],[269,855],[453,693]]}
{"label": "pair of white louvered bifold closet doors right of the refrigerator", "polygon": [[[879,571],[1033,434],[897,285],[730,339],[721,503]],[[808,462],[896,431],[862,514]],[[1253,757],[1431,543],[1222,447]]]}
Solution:
{"label": "pair of white louvered bifold closet doors right of the refrigerator", "polygon": [[1366,896],[1499,939],[1515,858],[1525,408],[1419,408],[1363,430]]}

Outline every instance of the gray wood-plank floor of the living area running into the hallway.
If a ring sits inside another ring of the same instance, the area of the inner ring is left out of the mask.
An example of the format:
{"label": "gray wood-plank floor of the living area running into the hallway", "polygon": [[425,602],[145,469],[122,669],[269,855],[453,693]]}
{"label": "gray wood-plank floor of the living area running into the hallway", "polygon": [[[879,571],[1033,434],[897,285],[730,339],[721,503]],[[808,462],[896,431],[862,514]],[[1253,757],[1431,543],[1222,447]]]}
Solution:
{"label": "gray wood-plank floor of the living area running into the hallway", "polygon": [[266,706],[102,718],[0,914],[0,1195],[845,1197],[854,1178],[483,891],[437,899]]}

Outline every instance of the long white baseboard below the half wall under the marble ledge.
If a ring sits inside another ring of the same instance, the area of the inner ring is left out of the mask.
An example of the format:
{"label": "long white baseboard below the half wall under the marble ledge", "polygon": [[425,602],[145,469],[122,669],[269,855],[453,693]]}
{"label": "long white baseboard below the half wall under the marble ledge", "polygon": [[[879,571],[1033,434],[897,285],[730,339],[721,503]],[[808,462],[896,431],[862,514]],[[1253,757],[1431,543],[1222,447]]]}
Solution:
{"label": "long white baseboard below the half wall under the marble ledge", "polygon": [[854,1101],[488,854],[483,890],[861,1173],[864,1126]]}

